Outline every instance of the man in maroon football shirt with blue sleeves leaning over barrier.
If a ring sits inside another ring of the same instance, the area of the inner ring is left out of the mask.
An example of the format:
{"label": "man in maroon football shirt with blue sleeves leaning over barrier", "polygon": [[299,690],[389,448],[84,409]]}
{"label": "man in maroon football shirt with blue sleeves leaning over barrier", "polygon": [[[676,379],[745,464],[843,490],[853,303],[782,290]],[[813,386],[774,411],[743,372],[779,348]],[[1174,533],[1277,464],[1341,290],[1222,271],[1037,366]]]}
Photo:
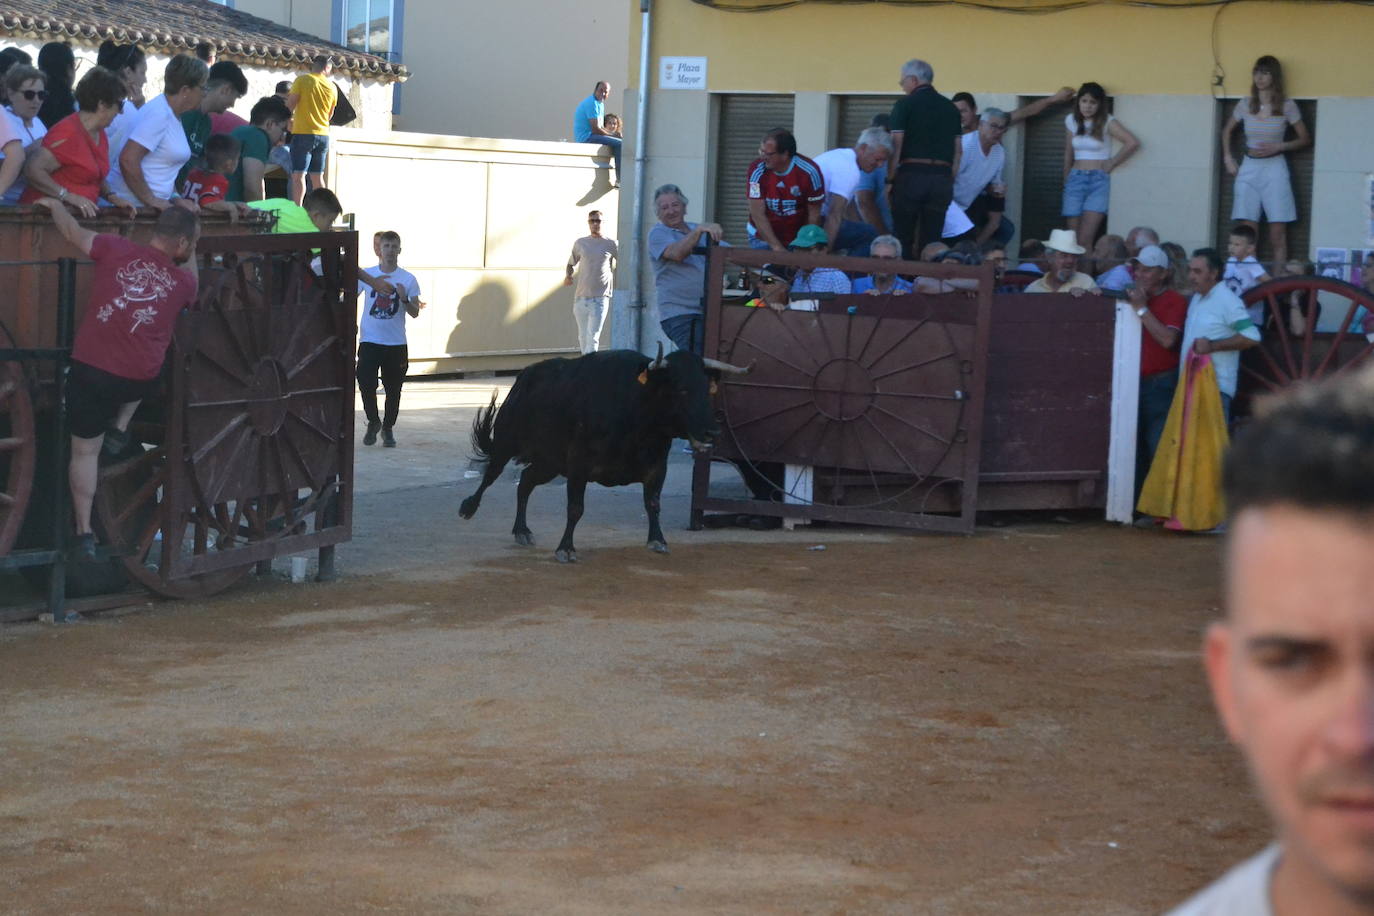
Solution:
{"label": "man in maroon football shirt with blue sleeves leaning over barrier", "polygon": [[775,128],[758,144],[749,163],[749,243],[786,251],[804,225],[820,225],[826,180],[820,166],[797,152],[797,139]]}

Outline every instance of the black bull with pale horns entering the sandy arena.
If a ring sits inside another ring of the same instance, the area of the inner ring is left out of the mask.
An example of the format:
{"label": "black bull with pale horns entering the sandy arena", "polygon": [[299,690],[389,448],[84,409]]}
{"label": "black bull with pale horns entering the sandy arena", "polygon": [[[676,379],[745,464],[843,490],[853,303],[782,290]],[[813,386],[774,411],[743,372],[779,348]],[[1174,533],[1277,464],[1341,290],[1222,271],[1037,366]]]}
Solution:
{"label": "black bull with pale horns entering the sandy arena", "polygon": [[555,556],[577,560],[573,529],[583,516],[587,483],[644,486],[649,548],[668,552],[658,526],[660,494],[668,474],[668,449],[675,438],[706,448],[720,433],[712,417],[710,396],[721,374],[743,374],[727,363],[675,352],[650,360],[635,350],[589,353],[576,360],[544,360],[521,371],[506,402],[492,402],[473,422],[473,450],[486,459],[477,492],[458,514],[477,514],[506,463],[525,466],[515,494],[517,544],[534,536],[525,523],[530,492],[559,474],[567,478],[567,527]]}

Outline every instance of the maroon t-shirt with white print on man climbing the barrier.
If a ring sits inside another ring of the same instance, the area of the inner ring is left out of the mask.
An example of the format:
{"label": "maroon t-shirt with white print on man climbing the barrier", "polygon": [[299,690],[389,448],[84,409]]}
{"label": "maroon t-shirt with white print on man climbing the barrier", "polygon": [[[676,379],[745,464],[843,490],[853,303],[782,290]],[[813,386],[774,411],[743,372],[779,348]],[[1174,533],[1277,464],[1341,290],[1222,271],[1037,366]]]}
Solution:
{"label": "maroon t-shirt with white print on man climbing the barrier", "polygon": [[191,276],[162,251],[98,235],[95,276],[71,358],[143,382],[162,371],[177,316],[195,298]]}

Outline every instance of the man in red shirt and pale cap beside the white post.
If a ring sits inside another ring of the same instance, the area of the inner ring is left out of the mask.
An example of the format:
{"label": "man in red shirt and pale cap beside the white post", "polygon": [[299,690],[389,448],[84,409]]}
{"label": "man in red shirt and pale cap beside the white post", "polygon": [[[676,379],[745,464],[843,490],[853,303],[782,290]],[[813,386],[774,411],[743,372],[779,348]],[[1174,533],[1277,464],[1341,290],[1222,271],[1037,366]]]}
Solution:
{"label": "man in red shirt and pale cap beside the white post", "polygon": [[1140,319],[1140,407],[1135,434],[1135,494],[1139,499],[1164,423],[1173,404],[1179,379],[1179,341],[1189,316],[1189,301],[1168,288],[1169,255],[1147,244],[1135,255],[1135,287],[1131,308]]}

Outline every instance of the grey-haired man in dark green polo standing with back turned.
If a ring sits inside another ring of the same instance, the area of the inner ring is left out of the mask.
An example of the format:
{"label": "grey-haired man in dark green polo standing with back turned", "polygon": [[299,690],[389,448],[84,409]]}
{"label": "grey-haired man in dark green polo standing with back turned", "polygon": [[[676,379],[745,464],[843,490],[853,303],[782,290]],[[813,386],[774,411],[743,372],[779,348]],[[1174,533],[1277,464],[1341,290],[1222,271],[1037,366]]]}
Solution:
{"label": "grey-haired man in dark green polo standing with back turned", "polygon": [[912,249],[919,251],[940,239],[962,154],[959,110],[936,92],[933,80],[934,70],[925,60],[901,65],[900,84],[907,95],[892,106],[889,119],[892,228],[908,257]]}

